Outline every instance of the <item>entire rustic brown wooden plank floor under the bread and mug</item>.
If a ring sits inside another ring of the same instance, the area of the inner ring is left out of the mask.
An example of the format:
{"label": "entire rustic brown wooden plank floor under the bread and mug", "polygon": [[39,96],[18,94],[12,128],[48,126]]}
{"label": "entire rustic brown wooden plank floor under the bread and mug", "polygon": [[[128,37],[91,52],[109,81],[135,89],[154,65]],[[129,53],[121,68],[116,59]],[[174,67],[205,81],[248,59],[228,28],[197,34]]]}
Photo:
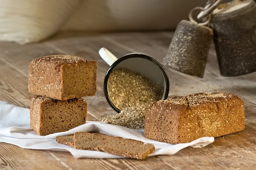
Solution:
{"label": "entire rustic brown wooden plank floor under the bread and mug", "polygon": [[[141,52],[163,60],[173,32],[130,32],[86,34],[61,32],[38,44],[21,46],[0,42],[0,100],[29,108],[28,65],[35,58],[51,54],[72,54],[98,63],[97,94],[86,97],[88,120],[115,113],[103,93],[108,65],[98,51],[106,47],[117,57]],[[169,96],[197,92],[228,91],[245,103],[245,130],[215,138],[204,148],[185,148],[175,155],[134,159],[75,159],[68,152],[22,149],[0,143],[0,169],[256,169],[256,73],[222,77],[214,47],[211,47],[204,78],[166,68]]]}

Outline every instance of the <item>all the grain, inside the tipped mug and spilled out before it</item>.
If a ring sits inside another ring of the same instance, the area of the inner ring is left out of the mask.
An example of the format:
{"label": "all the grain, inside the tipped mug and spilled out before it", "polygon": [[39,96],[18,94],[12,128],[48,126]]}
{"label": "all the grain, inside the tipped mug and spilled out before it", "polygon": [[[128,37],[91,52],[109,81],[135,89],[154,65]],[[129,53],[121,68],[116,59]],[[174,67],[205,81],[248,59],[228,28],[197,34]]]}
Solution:
{"label": "all the grain, inside the tipped mug and spilled out before it", "polygon": [[161,99],[163,89],[139,73],[119,68],[109,75],[108,93],[121,112],[100,121],[131,129],[144,129],[145,108],[149,103]]}

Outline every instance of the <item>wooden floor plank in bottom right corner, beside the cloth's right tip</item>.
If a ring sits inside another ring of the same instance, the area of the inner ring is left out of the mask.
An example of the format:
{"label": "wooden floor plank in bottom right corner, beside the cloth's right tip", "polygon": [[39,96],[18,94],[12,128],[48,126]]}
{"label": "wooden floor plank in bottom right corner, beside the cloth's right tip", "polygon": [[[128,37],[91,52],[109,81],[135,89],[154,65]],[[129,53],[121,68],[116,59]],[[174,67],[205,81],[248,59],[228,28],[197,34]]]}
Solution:
{"label": "wooden floor plank in bottom right corner, beside the cloth's right tip", "polygon": [[224,138],[203,148],[185,148],[168,157],[158,155],[158,158],[174,169],[255,169],[256,156]]}

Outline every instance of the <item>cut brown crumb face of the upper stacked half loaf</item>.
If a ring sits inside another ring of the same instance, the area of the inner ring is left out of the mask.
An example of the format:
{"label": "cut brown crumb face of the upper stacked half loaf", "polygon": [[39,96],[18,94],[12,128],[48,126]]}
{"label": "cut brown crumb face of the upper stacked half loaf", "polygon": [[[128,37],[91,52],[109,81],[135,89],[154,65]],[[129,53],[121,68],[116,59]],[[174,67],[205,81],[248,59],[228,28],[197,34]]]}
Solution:
{"label": "cut brown crumb face of the upper stacked half loaf", "polygon": [[96,69],[94,60],[62,66],[62,98],[94,96],[96,94]]}

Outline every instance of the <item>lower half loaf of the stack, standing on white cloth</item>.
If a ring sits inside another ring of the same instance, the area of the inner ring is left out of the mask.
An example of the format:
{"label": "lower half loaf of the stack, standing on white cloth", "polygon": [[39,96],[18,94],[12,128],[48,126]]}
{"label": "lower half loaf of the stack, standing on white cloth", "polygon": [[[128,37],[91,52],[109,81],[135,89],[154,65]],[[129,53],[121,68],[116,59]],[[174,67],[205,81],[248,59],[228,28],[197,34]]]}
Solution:
{"label": "lower half loaf of the stack, standing on white cloth", "polygon": [[68,131],[86,123],[87,103],[83,98],[65,101],[33,96],[30,103],[30,126],[41,136]]}

